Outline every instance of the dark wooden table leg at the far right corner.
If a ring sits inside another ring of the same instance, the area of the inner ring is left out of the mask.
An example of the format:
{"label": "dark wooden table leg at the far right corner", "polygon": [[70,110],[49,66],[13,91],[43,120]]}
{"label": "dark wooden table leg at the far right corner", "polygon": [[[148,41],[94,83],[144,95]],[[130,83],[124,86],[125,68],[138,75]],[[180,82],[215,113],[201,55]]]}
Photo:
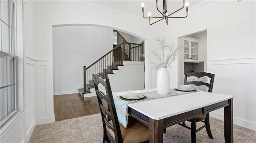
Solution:
{"label": "dark wooden table leg at the far right corner", "polygon": [[229,100],[230,105],[224,107],[224,136],[225,143],[233,143],[233,98]]}

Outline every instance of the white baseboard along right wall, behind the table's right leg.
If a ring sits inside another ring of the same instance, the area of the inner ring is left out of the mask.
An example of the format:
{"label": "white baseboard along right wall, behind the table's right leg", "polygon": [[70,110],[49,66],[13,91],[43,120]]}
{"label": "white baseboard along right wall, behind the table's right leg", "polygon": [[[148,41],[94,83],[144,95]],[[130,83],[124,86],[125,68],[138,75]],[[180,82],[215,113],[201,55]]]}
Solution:
{"label": "white baseboard along right wall, behind the table's right leg", "polygon": [[[210,117],[224,121],[224,114],[210,112]],[[235,125],[239,125],[239,126],[247,128],[247,129],[256,131],[256,123],[253,123],[251,121],[246,121],[244,119],[239,119],[239,118],[233,117],[233,123]]]}

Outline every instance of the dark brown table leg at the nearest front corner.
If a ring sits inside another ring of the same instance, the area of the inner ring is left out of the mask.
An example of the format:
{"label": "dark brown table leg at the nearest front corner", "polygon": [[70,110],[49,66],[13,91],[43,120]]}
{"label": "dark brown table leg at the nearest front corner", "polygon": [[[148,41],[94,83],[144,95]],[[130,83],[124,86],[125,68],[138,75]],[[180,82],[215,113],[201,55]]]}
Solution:
{"label": "dark brown table leg at the nearest front corner", "polygon": [[149,142],[150,143],[162,143],[163,142],[163,120],[148,119],[149,127]]}

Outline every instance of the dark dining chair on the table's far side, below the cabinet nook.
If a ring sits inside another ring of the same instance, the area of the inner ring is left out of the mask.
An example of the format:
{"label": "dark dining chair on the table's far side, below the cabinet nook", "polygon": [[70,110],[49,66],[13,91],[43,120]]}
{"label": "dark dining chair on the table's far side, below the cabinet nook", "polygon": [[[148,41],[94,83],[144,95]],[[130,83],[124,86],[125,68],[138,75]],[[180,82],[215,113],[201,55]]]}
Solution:
{"label": "dark dining chair on the table's far side, below the cabinet nook", "polygon": [[[184,85],[189,85],[189,84],[194,84],[196,86],[205,85],[209,88],[208,92],[212,92],[212,87],[213,87],[213,82],[214,82],[214,75],[215,74],[211,74],[211,73],[207,73],[207,72],[190,72],[190,73],[185,74]],[[202,81],[199,81],[199,80],[198,81],[188,81],[187,78],[190,77],[190,76],[196,76],[196,77],[198,77],[198,79],[200,79],[201,77],[207,76],[208,78],[210,78],[210,83],[202,82]],[[209,113],[198,116],[194,119],[190,119],[188,121],[191,122],[190,127],[188,127],[186,125],[185,121],[182,122],[182,123],[178,123],[178,124],[191,130],[191,142],[192,143],[196,142],[196,132],[200,131],[204,127],[206,128],[208,136],[211,139],[213,139],[211,129],[210,129]],[[198,128],[198,129],[196,129],[196,122],[198,122],[198,121],[204,122],[204,125],[202,127]]]}

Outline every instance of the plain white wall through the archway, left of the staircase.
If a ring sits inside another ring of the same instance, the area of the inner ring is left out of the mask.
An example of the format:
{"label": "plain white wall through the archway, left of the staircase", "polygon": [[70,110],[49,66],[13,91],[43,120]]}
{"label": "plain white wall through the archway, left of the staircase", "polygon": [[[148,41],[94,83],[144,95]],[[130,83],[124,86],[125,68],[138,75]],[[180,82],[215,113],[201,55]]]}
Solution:
{"label": "plain white wall through the archway, left of the staircase", "polygon": [[113,49],[113,29],[94,26],[53,27],[53,92],[78,93],[83,86],[83,66]]}

